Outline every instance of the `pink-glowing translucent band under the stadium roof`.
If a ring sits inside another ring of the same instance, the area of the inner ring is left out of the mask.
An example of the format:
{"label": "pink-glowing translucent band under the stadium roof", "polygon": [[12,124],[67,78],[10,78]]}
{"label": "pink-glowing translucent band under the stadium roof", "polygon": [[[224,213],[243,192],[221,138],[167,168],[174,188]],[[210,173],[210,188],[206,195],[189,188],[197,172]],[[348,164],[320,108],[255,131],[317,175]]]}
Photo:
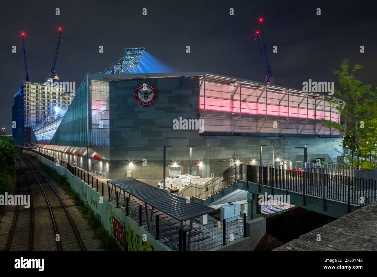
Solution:
{"label": "pink-glowing translucent band under the stadium roof", "polygon": [[[200,91],[200,110],[213,110],[231,113],[249,113],[255,115],[283,116],[290,118],[327,119],[338,122],[339,112],[334,107],[334,102],[308,98],[302,101],[304,96],[285,96],[281,93],[256,90],[242,85],[241,105],[240,89],[234,94],[236,86],[217,84],[206,81],[205,83],[205,108],[204,87]],[[233,97],[234,96],[234,97]],[[285,96],[285,97],[283,97]],[[322,102],[321,102],[322,101]]]}

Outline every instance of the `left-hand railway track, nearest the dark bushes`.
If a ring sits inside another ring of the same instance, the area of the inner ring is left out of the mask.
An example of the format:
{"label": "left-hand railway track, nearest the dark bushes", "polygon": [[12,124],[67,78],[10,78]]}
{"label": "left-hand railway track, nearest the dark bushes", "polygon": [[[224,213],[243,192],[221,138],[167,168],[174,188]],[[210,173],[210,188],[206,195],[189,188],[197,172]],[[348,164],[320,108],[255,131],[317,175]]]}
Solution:
{"label": "left-hand railway track, nearest the dark bushes", "polygon": [[17,205],[6,251],[32,251],[34,228],[33,197],[29,180],[19,159],[17,159],[16,163],[16,173],[18,195],[30,195],[30,206],[25,208],[25,205]]}

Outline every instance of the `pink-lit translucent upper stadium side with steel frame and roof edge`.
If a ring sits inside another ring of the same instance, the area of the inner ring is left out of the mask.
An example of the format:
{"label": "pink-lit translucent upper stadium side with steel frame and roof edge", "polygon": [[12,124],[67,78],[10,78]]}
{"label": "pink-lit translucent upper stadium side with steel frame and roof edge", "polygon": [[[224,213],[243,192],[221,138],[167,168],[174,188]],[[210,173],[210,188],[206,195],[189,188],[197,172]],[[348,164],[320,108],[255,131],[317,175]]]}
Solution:
{"label": "pink-lit translucent upper stadium side with steel frame and roof edge", "polygon": [[203,135],[339,137],[322,119],[346,122],[339,114],[339,109],[346,109],[342,100],[288,87],[205,72],[92,75],[109,81],[173,77],[198,79]]}

